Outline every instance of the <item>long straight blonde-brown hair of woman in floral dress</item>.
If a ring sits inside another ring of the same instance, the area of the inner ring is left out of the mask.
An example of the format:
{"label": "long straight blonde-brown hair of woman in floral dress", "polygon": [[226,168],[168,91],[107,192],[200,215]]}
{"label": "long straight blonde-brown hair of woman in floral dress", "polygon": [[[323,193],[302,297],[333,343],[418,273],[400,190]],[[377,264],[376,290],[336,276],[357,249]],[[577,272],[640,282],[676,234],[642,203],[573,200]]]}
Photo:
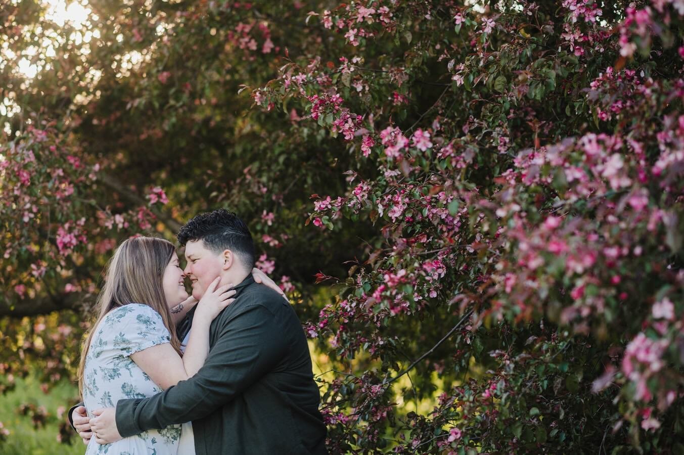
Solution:
{"label": "long straight blonde-brown hair of woman in floral dress", "polygon": [[116,248],[105,272],[105,287],[97,298],[93,312],[97,320],[92,324],[81,347],[79,364],[79,393],[83,397],[83,370],[92,336],[98,324],[109,311],[131,303],[142,303],[161,315],[164,326],[171,334],[171,346],[181,354],[181,341],[166,306],[162,285],[164,270],[175,248],[171,242],[156,237],[132,237]]}

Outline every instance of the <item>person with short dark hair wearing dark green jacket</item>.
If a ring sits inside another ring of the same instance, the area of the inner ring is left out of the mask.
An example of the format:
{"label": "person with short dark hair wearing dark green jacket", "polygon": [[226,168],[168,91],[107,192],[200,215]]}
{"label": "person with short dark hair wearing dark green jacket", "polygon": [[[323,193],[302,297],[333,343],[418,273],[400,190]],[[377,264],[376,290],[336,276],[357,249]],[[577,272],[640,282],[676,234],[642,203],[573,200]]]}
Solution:
{"label": "person with short dark hair wearing dark green jacket", "polygon": [[[195,376],[150,398],[119,400],[90,420],[100,443],[192,421],[197,454],[325,454],[326,426],[311,356],[289,303],[254,283],[254,242],[235,213],[215,210],[178,234],[192,295],[239,283],[235,302],[211,323],[210,351]],[[185,326],[194,313],[187,315]],[[183,339],[187,333],[179,333]]]}

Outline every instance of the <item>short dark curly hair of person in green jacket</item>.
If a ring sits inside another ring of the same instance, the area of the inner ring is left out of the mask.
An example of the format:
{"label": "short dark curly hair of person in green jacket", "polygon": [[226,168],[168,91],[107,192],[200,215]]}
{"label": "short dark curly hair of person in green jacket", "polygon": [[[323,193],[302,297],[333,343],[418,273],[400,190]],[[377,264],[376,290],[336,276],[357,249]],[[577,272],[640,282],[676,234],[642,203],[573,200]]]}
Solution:
{"label": "short dark curly hair of person in green jacket", "polygon": [[176,238],[181,246],[202,240],[206,248],[217,254],[232,250],[246,268],[251,270],[254,267],[256,256],[252,234],[232,211],[218,209],[200,213],[183,224]]}

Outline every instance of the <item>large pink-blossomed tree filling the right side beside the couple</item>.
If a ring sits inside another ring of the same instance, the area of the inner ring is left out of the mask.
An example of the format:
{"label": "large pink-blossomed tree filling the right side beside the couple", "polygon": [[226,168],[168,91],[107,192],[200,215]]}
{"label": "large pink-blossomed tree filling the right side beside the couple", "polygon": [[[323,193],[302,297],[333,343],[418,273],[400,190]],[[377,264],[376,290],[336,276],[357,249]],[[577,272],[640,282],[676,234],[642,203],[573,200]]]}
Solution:
{"label": "large pink-blossomed tree filling the right side beside the couple", "polygon": [[[333,450],[569,451],[627,434],[684,448],[669,437],[684,379],[683,14],[575,0],[309,13],[328,34],[254,99],[298,100],[301,124],[356,159],[314,226],[368,218],[382,234],[307,326],[341,368],[375,365],[326,381]],[[430,414],[393,405],[405,374],[404,400],[440,393]]]}

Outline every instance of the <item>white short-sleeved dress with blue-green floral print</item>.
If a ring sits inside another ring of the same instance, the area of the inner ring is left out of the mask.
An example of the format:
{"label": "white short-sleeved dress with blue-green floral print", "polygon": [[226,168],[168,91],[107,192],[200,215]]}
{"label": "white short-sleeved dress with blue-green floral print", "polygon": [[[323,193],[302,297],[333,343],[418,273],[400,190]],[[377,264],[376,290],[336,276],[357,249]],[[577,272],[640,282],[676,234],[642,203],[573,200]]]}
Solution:
{"label": "white short-sleeved dress with blue-green floral print", "polygon": [[[113,408],[124,398],[146,398],[163,391],[131,360],[131,354],[170,343],[161,316],[144,304],[132,303],[109,311],[90,340],[83,371],[83,402],[88,415],[97,408]],[[181,426],[148,430],[115,443],[100,445],[90,439],[86,455],[176,455]]]}

